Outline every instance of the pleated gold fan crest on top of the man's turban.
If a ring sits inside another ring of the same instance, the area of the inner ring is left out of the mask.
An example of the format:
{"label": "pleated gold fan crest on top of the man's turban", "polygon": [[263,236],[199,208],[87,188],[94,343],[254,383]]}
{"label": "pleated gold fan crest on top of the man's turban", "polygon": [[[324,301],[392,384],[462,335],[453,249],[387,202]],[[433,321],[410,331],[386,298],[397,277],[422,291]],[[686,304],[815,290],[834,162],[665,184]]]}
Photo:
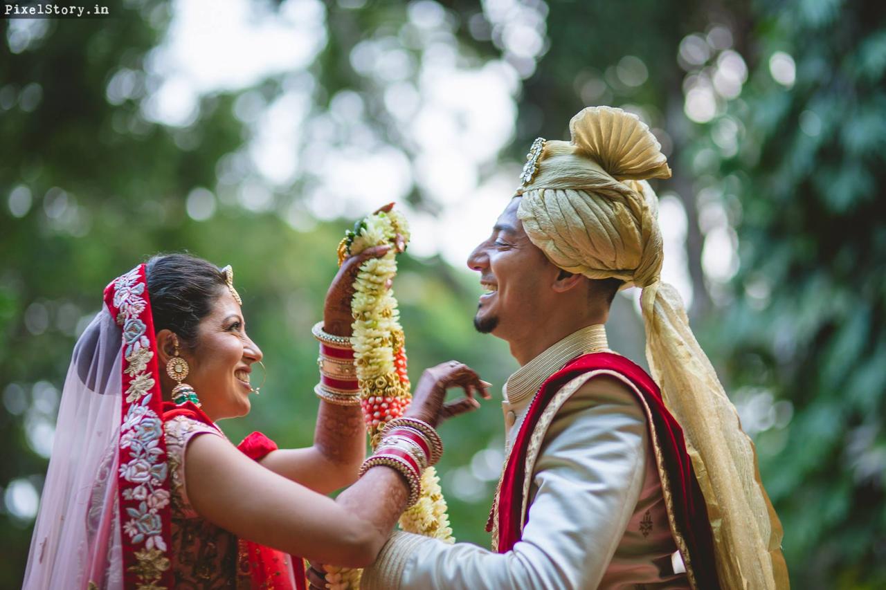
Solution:
{"label": "pleated gold fan crest on top of the man's turban", "polygon": [[670,178],[661,144],[633,113],[588,106],[569,122],[572,144],[619,181]]}

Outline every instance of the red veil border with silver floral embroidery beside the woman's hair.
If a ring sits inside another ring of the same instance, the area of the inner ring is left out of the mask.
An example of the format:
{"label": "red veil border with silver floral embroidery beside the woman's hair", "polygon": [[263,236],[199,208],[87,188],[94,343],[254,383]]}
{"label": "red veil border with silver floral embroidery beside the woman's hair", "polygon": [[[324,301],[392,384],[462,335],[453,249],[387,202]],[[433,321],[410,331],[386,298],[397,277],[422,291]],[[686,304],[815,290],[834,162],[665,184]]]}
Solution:
{"label": "red veil border with silver floral embroidery beside the woman's hair", "polygon": [[144,264],[105,289],[105,305],[123,330],[122,423],[120,424],[120,522],[125,586],[163,590],[172,586],[169,471],[153,319]]}

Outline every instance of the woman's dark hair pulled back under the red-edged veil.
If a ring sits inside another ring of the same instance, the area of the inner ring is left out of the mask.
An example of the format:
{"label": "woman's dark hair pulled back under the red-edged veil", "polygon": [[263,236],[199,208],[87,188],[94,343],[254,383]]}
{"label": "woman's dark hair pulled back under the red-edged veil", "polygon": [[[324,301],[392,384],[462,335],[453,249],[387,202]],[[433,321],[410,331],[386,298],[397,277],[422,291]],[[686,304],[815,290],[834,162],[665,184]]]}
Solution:
{"label": "woman's dark hair pulled back under the red-edged veil", "polygon": [[197,343],[197,326],[226,288],[211,262],[184,253],[158,254],[146,262],[154,333],[172,330],[183,346]]}

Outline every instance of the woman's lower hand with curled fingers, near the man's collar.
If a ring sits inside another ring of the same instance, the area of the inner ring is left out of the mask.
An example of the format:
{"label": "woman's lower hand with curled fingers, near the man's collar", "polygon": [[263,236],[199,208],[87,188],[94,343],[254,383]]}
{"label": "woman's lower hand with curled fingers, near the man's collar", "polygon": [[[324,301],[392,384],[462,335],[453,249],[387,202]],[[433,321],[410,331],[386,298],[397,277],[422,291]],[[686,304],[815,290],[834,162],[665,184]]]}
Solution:
{"label": "woman's lower hand with curled fingers, near the man's collar", "polygon": [[[447,418],[479,408],[476,394],[484,400],[492,399],[489,385],[473,369],[459,361],[441,363],[422,373],[405,415],[437,426]],[[450,387],[461,387],[465,397],[444,403]]]}

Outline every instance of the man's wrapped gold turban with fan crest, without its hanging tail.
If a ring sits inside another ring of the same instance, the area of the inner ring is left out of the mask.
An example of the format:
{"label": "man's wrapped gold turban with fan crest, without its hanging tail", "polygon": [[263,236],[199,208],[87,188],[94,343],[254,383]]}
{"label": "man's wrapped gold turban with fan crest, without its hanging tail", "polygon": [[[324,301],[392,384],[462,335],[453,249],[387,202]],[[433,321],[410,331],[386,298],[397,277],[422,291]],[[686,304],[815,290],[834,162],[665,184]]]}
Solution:
{"label": "man's wrapped gold turban with fan crest, without its hanging tail", "polygon": [[526,234],[571,273],[656,282],[662,237],[645,181],[671,176],[661,146],[636,115],[607,106],[581,111],[569,128],[572,141],[545,142],[537,173],[517,190]]}

